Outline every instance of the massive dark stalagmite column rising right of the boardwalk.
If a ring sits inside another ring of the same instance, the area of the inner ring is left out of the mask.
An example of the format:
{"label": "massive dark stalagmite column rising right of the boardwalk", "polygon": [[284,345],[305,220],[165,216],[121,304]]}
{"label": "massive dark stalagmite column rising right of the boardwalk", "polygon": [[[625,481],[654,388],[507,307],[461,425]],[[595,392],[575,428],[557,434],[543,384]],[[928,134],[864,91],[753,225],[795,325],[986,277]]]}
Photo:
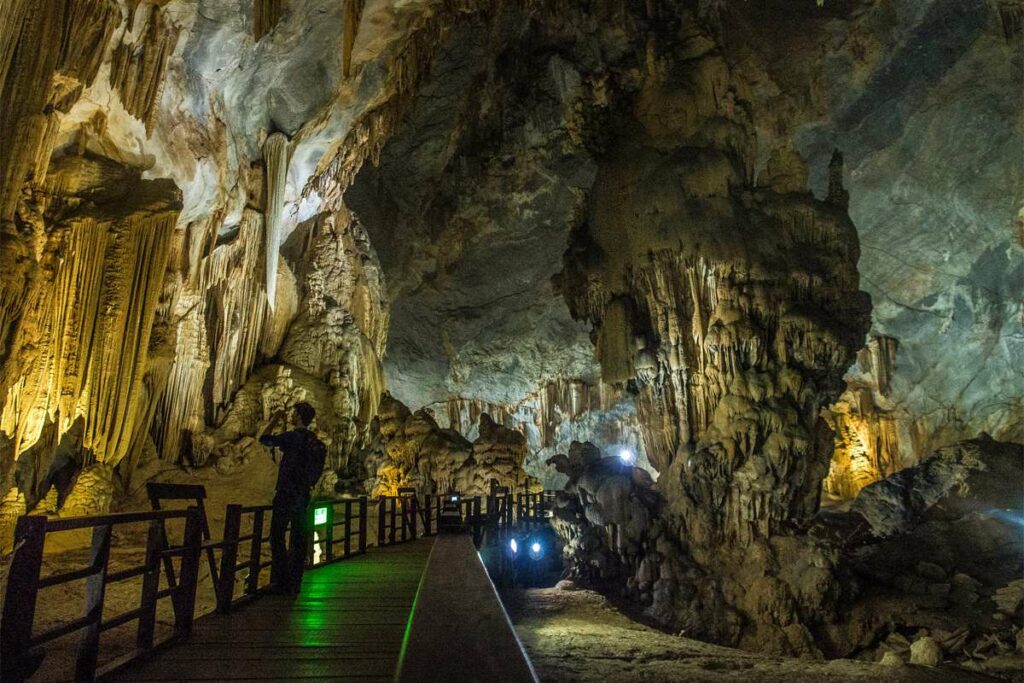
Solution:
{"label": "massive dark stalagmite column rising right of the boardwalk", "polygon": [[[754,183],[751,122],[723,101],[745,86],[700,38],[689,40],[680,49],[702,56],[678,67],[685,87],[651,75],[635,114],[642,132],[627,128],[601,158],[562,291],[595,329],[605,380],[636,392],[660,473],[659,516],[685,544],[680,565],[696,567],[682,588],[689,597],[670,604],[676,589],[667,587],[652,610],[717,639],[760,642],[785,625],[758,602],[779,590],[770,567],[820,561],[811,545],[773,540],[817,510],[831,446],[819,415],[840,393],[868,308],[857,234],[835,207],[845,197],[840,162],[827,203],[806,193],[806,164],[792,148],[770,155]],[[673,87],[683,87],[685,105]],[[656,532],[629,542],[640,549]],[[752,559],[754,547],[776,559]],[[623,558],[627,571],[634,560]],[[748,590],[754,578],[764,589]],[[818,597],[801,600],[825,609]],[[709,615],[722,603],[742,614],[742,628]]]}

